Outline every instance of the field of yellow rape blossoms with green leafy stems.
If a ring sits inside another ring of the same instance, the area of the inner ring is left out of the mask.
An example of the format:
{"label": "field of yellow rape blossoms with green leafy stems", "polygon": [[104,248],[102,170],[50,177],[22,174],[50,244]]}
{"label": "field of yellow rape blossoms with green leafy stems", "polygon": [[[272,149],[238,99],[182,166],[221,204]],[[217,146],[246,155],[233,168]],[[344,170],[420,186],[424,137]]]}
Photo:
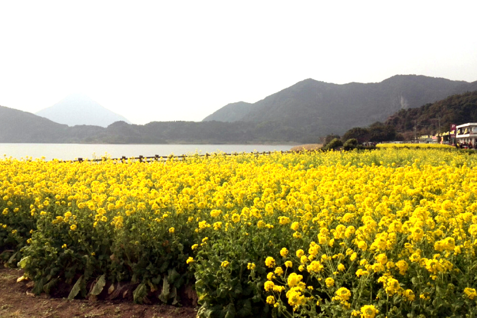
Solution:
{"label": "field of yellow rape blossoms with green leafy stems", "polygon": [[0,160],[0,258],[36,293],[199,317],[476,317],[477,157],[450,147]]}

